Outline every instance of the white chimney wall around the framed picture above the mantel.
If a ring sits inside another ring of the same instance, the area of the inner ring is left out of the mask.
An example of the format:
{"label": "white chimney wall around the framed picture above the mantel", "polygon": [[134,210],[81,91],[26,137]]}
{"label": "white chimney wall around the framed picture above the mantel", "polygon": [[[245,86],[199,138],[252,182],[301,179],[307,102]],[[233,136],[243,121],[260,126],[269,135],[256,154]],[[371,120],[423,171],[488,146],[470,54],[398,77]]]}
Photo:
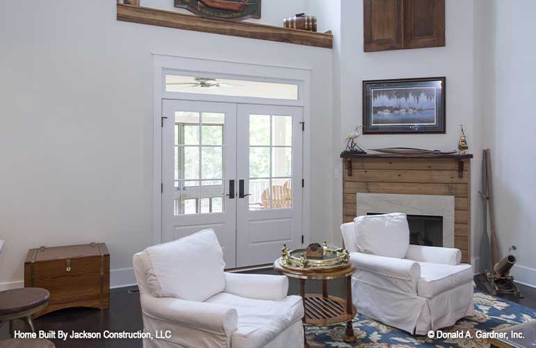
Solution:
{"label": "white chimney wall around the framed picture above the mantel", "polygon": [[[362,81],[405,77],[446,77],[446,134],[366,135],[359,138],[364,148],[407,146],[454,150],[460,138],[460,123],[473,152],[473,1],[446,1],[446,47],[389,52],[363,51],[363,1],[342,0],[341,90],[339,134],[334,137],[337,154],[346,145],[344,136],[362,124]],[[336,58],[334,58],[336,61]],[[334,73],[336,76],[336,73]],[[336,84],[337,81],[334,81]],[[473,168],[478,159],[473,160]],[[341,160],[334,159],[341,176]],[[473,179],[478,173],[473,173]],[[473,193],[476,187],[473,185]],[[334,242],[341,241],[342,180],[334,181]]]}

